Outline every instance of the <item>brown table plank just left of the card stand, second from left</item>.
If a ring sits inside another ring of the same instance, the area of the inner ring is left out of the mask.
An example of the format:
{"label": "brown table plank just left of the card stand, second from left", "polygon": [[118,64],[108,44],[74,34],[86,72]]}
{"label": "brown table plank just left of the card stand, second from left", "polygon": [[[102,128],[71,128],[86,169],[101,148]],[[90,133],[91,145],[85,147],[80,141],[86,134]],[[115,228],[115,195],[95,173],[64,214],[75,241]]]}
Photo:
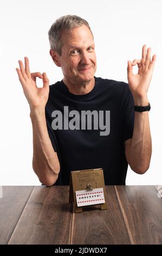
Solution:
{"label": "brown table plank just left of the card stand, second from left", "polygon": [[9,244],[69,244],[72,205],[69,186],[34,188]]}

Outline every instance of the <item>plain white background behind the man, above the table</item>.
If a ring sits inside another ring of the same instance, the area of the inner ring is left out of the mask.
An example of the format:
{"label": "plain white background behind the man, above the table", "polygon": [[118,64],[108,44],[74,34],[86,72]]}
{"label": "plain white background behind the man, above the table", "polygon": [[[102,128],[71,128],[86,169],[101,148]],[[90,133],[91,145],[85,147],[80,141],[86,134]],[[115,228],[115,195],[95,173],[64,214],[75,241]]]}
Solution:
{"label": "plain white background behind the man, above the table", "polygon": [[48,30],[58,17],[67,14],[83,17],[92,28],[98,58],[96,77],[127,82],[127,60],[141,58],[142,45],[146,44],[152,48],[152,54],[157,54],[148,91],[151,165],[144,175],[128,168],[126,184],[161,184],[161,0],[1,0],[0,184],[40,185],[31,164],[33,138],[29,106],[16,68],[18,60],[24,61],[27,56],[31,72],[47,72],[50,84],[62,79],[61,68],[55,66],[49,55]]}

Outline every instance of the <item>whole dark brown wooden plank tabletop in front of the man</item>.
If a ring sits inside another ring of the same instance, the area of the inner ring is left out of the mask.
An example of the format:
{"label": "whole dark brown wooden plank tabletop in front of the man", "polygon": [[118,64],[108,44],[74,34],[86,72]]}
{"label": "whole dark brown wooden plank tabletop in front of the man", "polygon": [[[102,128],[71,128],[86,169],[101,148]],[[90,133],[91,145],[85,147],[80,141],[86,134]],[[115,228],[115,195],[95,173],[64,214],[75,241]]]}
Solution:
{"label": "whole dark brown wooden plank tabletop in front of the man", "polygon": [[[80,214],[69,186],[3,186],[0,244],[162,244],[162,198],[156,186],[106,186],[107,210]],[[162,188],[162,186],[161,186]]]}

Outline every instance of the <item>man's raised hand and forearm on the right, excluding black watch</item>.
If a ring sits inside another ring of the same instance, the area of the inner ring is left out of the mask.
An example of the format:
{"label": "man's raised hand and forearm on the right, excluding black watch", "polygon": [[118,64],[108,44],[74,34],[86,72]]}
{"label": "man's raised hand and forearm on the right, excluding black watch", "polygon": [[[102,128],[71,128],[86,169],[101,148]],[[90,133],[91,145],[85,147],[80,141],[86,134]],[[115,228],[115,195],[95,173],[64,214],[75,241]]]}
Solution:
{"label": "man's raised hand and forearm on the right, excluding black watch", "polygon": [[[151,48],[142,47],[142,58],[128,60],[128,85],[136,106],[148,106],[147,92],[150,86],[156,55],[151,60]],[[133,74],[133,66],[138,65],[138,73]],[[145,173],[150,166],[152,143],[148,111],[135,112],[132,139],[125,141],[126,159],[131,169],[137,173]]]}

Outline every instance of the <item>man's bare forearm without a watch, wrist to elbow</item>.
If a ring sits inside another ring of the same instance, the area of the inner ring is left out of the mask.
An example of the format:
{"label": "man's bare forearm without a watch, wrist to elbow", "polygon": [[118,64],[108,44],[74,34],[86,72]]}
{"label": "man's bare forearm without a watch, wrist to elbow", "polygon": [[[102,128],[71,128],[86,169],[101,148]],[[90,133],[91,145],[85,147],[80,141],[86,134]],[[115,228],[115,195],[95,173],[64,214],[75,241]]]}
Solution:
{"label": "man's bare forearm without a watch, wrist to elbow", "polygon": [[58,178],[59,159],[48,135],[45,113],[31,111],[30,118],[33,125],[33,169],[39,180],[50,186]]}

